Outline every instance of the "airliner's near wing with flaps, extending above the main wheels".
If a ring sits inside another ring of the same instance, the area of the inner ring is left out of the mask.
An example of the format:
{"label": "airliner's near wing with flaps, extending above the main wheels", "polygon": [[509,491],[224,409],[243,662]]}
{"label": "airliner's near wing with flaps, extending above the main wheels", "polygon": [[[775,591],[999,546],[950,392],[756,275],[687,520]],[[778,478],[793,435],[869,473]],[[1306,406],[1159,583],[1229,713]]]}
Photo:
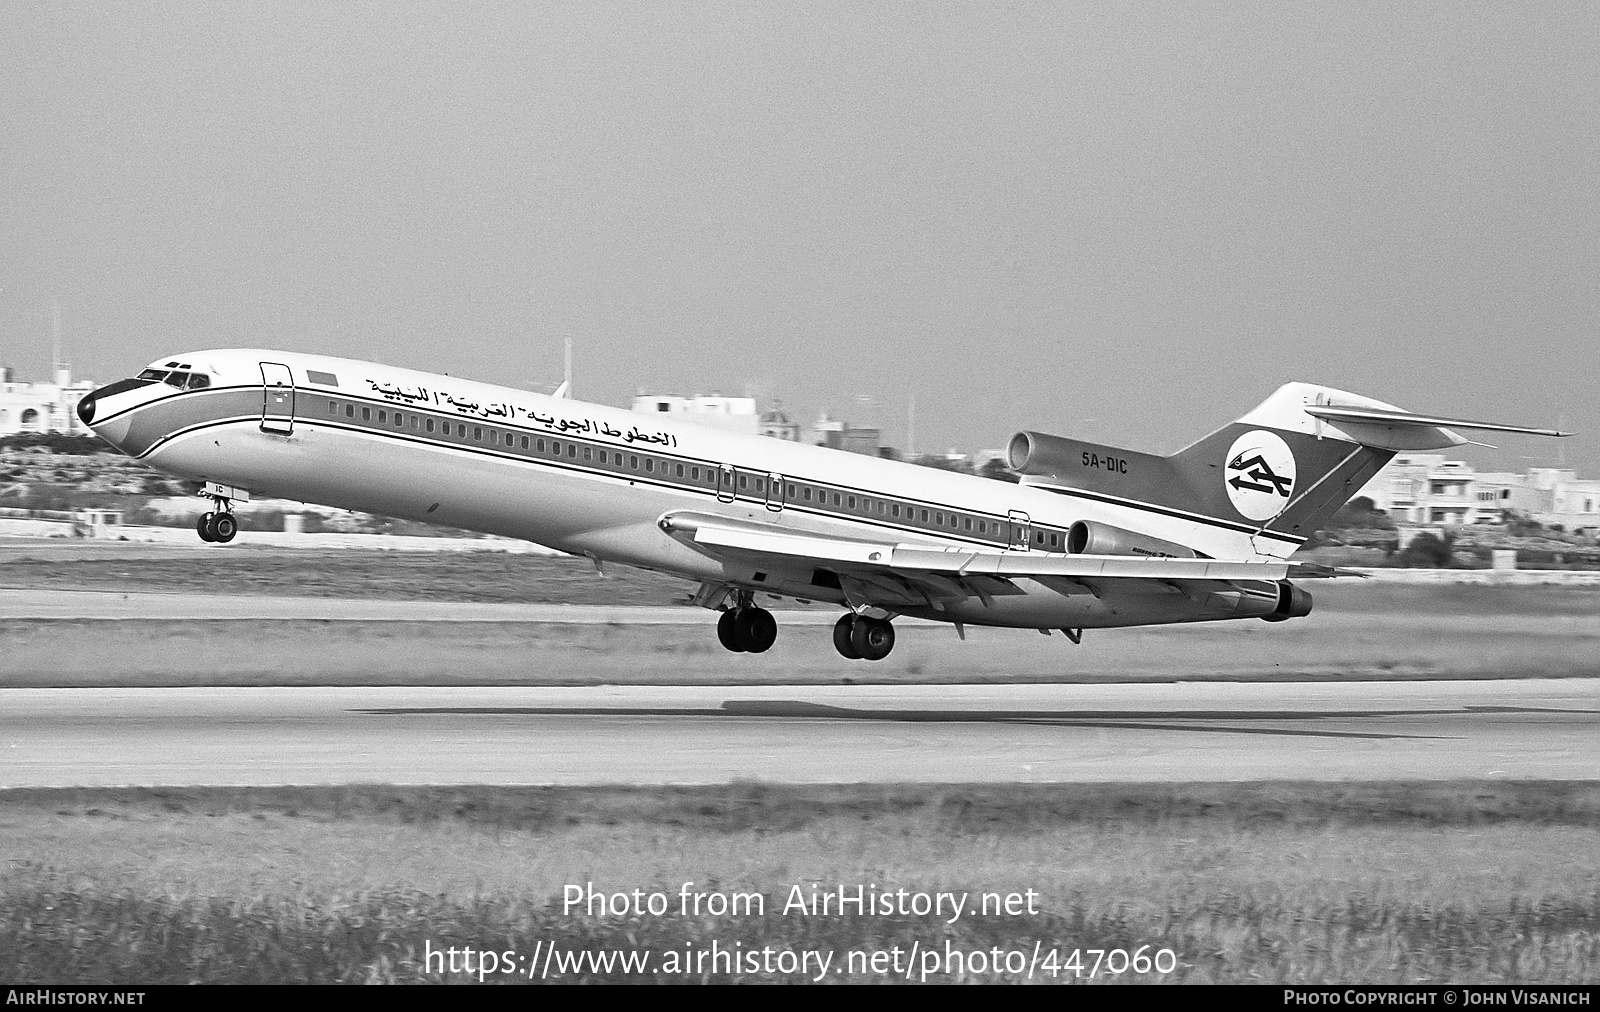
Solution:
{"label": "airliner's near wing with flaps, extending above the main wheels", "polygon": [[[981,548],[933,548],[838,538],[712,514],[666,514],[661,528],[694,549],[765,568],[816,567],[838,575],[846,592],[882,604],[923,605],[933,599],[1021,594],[1014,578],[1032,578],[1062,594],[1090,592],[1093,580],[1285,580],[1346,575],[1293,562],[1150,559],[1141,556],[1051,556]],[[854,584],[854,586],[851,586]]]}

